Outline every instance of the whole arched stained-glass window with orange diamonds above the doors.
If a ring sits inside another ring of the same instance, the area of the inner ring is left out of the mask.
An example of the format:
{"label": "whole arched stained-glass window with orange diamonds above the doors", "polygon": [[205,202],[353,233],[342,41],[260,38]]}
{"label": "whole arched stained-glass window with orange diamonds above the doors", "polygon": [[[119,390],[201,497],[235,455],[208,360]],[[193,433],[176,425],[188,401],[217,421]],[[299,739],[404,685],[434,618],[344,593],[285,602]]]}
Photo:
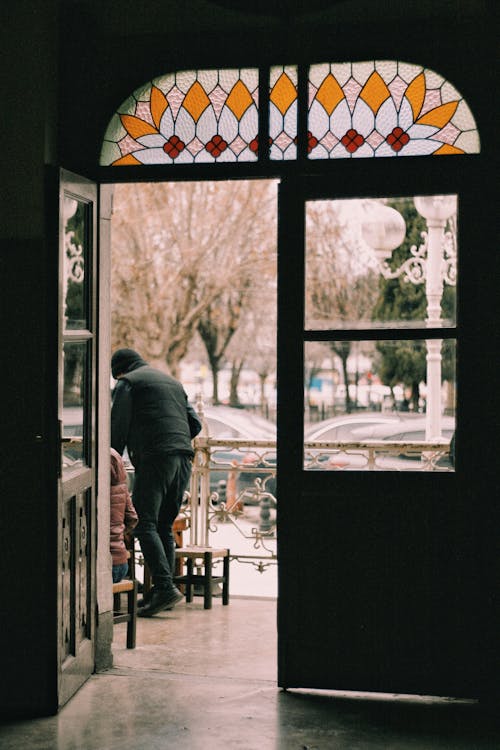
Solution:
{"label": "whole arched stained-glass window with orange diamonds above the doors", "polygon": [[[258,68],[181,71],[140,87],[104,136],[101,166],[255,162],[298,156],[298,116],[307,106],[309,159],[479,153],[474,117],[438,73],[376,60],[311,65],[307,103],[297,66],[273,66],[266,91]],[[266,97],[266,132],[259,103]]]}

